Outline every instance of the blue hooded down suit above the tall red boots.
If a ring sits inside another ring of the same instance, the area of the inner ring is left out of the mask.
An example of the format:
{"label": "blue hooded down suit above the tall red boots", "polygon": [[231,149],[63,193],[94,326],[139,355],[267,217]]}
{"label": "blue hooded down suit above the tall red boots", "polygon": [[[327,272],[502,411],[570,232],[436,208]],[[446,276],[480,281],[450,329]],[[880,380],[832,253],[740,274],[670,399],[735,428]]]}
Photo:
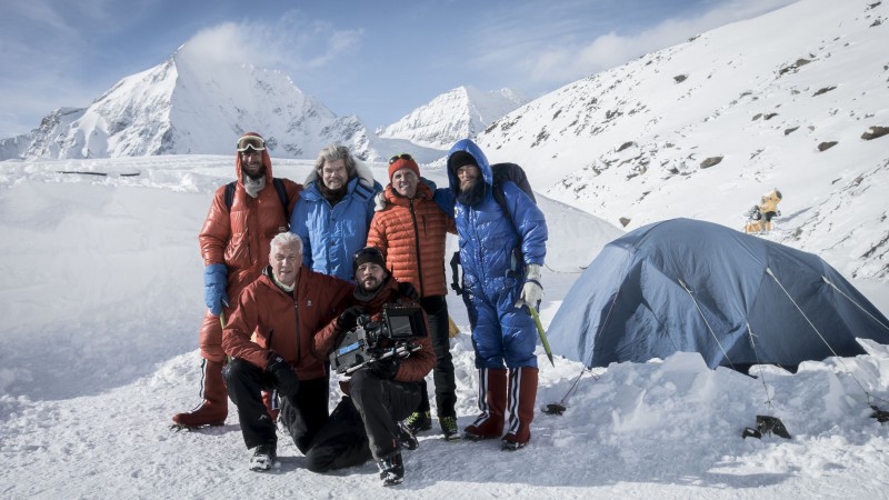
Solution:
{"label": "blue hooded down suit above the tall red boots", "polygon": [[[525,284],[526,266],[543,264],[547,222],[543,212],[511,181],[502,183],[507,207],[493,198],[493,173],[481,149],[471,140],[458,141],[448,153],[448,180],[459,192],[451,157],[466,151],[478,162],[485,192],[471,206],[455,203],[455,219],[463,267],[465,302],[476,316],[473,341],[479,368],[536,367],[537,330],[528,311],[516,309]],[[519,251],[517,251],[519,250]]]}

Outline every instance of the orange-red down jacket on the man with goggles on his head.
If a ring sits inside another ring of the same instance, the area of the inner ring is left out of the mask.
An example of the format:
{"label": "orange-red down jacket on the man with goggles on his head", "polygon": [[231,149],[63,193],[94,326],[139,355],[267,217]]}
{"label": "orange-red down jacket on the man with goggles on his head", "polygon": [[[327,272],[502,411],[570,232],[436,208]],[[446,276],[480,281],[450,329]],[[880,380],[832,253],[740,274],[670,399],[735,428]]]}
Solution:
{"label": "orange-red down jacket on the man with goggles on his head", "polygon": [[[288,217],[281,208],[272,184],[271,158],[262,151],[266,166],[266,187],[257,198],[251,198],[243,189],[241,180],[241,156],[234,153],[234,174],[238,182],[231,212],[226,207],[226,187],[217,189],[203,229],[198,237],[203,264],[224,263],[228,268],[228,296],[234,301],[248,283],[257,279],[269,264],[269,242],[281,231],[288,229]],[[302,186],[283,179],[289,207],[293,210]]]}

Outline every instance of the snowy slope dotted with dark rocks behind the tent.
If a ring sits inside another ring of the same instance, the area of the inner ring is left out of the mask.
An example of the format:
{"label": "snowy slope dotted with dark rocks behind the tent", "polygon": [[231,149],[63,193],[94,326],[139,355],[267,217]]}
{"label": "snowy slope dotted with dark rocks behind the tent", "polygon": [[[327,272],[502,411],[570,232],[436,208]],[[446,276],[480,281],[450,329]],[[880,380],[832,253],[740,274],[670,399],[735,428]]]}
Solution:
{"label": "snowy slope dotted with dark rocks behind the tent", "polygon": [[[535,189],[627,229],[675,217],[742,228],[777,187],[772,238],[887,277],[887,21],[886,2],[802,0],[565,86],[478,142],[522,163]],[[862,226],[882,229],[852,238]]]}

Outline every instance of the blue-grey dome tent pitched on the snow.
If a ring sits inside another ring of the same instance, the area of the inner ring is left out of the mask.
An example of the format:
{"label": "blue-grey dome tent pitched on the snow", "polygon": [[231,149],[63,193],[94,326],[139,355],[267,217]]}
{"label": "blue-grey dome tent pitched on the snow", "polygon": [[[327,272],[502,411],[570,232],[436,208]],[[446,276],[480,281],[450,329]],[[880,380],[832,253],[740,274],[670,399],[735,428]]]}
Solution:
{"label": "blue-grey dome tent pitched on the snow", "polygon": [[711,222],[673,219],[608,243],[549,328],[587,368],[700,352],[710,368],[865,353],[889,320],[818,256]]}

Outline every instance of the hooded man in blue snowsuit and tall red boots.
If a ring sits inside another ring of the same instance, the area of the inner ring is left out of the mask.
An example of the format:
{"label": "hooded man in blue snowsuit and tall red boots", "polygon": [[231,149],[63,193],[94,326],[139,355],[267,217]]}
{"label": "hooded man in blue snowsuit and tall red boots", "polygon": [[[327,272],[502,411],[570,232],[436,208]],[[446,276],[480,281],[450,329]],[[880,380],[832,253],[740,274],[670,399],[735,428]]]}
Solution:
{"label": "hooded man in blue snowsuit and tall red boots", "polygon": [[458,141],[448,153],[448,179],[457,197],[463,300],[475,319],[472,346],[479,370],[481,414],[463,436],[500,438],[508,409],[503,449],[516,450],[531,439],[537,329],[528,308],[536,308],[543,294],[540,268],[547,252],[547,222],[533,200],[511,181],[501,184],[507,210],[501,208],[488,159],[469,139]]}

